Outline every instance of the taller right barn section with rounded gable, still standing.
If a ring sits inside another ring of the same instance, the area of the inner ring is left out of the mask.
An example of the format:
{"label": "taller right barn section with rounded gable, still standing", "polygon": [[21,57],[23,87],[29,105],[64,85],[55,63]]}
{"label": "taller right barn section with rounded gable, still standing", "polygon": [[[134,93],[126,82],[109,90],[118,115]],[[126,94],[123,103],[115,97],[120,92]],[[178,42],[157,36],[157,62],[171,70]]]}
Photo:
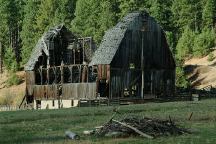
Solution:
{"label": "taller right barn section with rounded gable, still standing", "polygon": [[175,61],[163,29],[147,13],[130,13],[108,30],[90,66],[98,67],[101,97],[172,96]]}

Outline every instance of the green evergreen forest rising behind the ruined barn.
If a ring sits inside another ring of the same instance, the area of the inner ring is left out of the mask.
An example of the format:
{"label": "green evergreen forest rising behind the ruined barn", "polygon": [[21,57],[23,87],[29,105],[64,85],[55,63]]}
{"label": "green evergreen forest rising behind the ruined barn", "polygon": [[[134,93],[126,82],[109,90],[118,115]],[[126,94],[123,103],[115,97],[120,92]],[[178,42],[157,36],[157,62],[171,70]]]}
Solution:
{"label": "green evergreen forest rising behind the ruined barn", "polygon": [[182,65],[215,46],[216,0],[0,0],[0,42],[9,71],[23,68],[50,27],[65,24],[100,44],[106,30],[133,11],[147,11],[166,32],[176,58],[177,83],[187,85]]}

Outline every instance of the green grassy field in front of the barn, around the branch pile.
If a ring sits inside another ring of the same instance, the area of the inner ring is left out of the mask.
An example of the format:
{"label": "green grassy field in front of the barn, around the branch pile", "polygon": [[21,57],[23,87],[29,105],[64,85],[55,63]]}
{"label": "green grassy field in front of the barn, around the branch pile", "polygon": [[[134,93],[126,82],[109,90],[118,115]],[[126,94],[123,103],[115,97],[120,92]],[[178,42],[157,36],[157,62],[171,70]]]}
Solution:
{"label": "green grassy field in front of the barn, around the branch pile", "polygon": [[[60,110],[26,110],[0,112],[0,144],[9,143],[108,143],[108,144],[204,144],[216,143],[216,99],[199,102],[148,103],[121,106],[115,119],[128,115],[168,119],[194,131],[193,134],[160,137],[153,140],[130,138],[96,138],[82,135],[83,130],[104,124],[113,114],[113,107],[71,108]],[[192,119],[188,117],[193,112]],[[81,136],[79,141],[65,138],[71,130]]]}

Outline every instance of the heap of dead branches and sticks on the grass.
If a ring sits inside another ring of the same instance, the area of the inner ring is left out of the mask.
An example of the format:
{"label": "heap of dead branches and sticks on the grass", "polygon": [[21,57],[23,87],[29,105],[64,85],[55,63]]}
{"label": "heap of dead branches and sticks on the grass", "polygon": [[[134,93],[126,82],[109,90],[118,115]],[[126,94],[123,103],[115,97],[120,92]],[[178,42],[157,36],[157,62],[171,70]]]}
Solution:
{"label": "heap of dead branches and sticks on the grass", "polygon": [[159,120],[151,118],[125,118],[121,121],[111,119],[109,122],[96,129],[96,136],[128,137],[131,135],[146,138],[159,136],[182,135],[190,133],[185,128],[177,126],[171,118],[169,120]]}

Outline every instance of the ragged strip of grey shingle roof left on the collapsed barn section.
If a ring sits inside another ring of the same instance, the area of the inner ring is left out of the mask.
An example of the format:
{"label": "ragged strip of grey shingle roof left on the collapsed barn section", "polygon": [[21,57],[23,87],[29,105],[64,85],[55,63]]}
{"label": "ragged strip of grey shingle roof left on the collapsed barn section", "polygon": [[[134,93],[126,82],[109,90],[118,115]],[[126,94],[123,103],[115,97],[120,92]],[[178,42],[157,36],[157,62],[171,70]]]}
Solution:
{"label": "ragged strip of grey shingle roof left on the collapsed barn section", "polygon": [[46,33],[43,34],[43,36],[38,40],[36,46],[32,50],[29,61],[25,65],[25,71],[31,71],[34,69],[35,64],[38,61],[38,58],[42,55],[43,52],[47,56],[49,56],[49,40],[55,38],[63,29],[66,29],[66,27],[63,24],[61,24],[49,29]]}

